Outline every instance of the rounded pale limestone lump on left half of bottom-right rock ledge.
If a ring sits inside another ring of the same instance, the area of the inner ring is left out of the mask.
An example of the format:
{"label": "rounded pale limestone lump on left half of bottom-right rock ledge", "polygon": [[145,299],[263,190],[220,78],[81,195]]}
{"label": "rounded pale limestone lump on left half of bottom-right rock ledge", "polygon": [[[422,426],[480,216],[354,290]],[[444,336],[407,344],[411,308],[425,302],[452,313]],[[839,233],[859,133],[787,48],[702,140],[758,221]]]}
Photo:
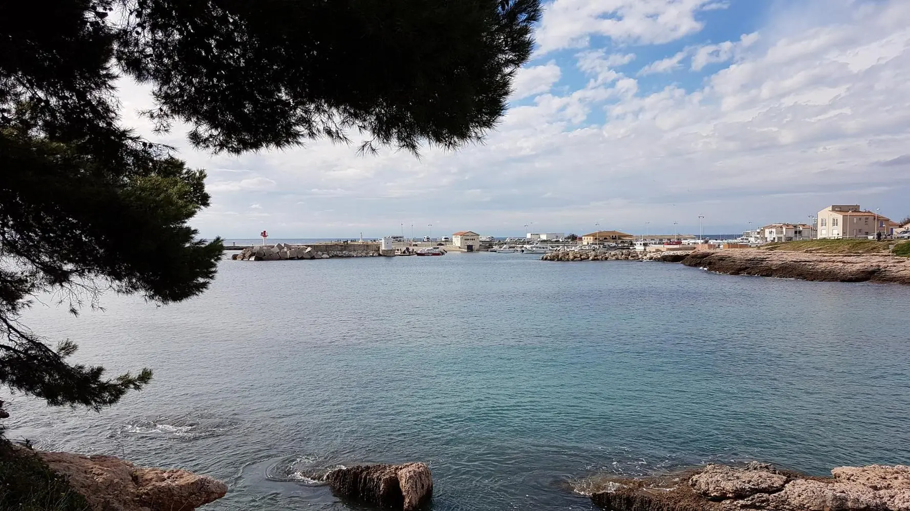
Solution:
{"label": "rounded pale limestone lump on left half of bottom-right rock ledge", "polygon": [[708,498],[743,498],[773,493],[784,489],[786,483],[787,476],[766,469],[725,465],[706,466],[701,474],[689,480],[695,491]]}

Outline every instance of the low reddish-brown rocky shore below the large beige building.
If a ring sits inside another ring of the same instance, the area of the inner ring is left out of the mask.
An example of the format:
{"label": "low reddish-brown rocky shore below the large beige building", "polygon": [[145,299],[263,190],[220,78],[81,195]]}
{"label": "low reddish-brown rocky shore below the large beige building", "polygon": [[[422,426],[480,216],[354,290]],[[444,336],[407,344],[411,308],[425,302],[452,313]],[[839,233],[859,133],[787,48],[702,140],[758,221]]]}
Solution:
{"label": "low reddish-brown rocky shore below the large beige building", "polygon": [[729,275],[910,285],[910,257],[897,255],[818,254],[749,248],[674,254],[663,260]]}

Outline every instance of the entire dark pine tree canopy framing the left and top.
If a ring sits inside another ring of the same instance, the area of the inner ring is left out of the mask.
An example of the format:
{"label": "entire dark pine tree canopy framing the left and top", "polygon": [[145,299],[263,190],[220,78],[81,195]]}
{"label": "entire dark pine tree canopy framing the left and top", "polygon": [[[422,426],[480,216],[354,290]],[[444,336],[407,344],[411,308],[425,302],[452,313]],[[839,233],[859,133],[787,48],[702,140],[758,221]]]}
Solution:
{"label": "entire dark pine tree canopy framing the left and top", "polygon": [[242,153],[328,138],[455,148],[504,113],[540,0],[59,0],[0,16],[0,384],[99,408],[151,379],[68,361],[20,321],[56,291],[159,303],[204,291],[220,240],[189,225],[205,173],[121,125],[116,81],[147,84],[158,130]]}

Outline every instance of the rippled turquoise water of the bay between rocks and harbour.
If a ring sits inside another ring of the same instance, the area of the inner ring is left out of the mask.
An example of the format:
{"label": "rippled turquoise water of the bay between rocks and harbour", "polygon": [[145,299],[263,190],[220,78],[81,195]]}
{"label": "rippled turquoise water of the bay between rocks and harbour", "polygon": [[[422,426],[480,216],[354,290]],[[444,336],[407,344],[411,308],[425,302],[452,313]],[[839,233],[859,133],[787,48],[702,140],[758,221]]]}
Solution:
{"label": "rippled turquoise water of the bay between rocks and harbour", "polygon": [[184,304],[35,306],[81,360],[156,379],[100,414],[16,396],[6,424],[222,478],[212,510],[351,508],[308,480],[411,460],[437,511],[590,509],[571,481],[602,472],[910,462],[908,304],[910,287],[662,263],[226,260]]}

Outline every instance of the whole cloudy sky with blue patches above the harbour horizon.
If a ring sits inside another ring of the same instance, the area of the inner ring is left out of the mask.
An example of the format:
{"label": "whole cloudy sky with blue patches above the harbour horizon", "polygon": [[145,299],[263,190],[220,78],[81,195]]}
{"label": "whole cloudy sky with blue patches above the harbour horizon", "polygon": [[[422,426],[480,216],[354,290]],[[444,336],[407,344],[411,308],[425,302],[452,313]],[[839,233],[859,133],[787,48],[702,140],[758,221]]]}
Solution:
{"label": "whole cloudy sky with blue patches above the harbour horizon", "polygon": [[[484,145],[228,156],[181,129],[156,139],[207,169],[205,236],[655,234],[697,232],[698,215],[734,233],[836,203],[910,215],[910,1],[553,0],[536,39]],[[122,93],[150,135],[147,91]]]}

